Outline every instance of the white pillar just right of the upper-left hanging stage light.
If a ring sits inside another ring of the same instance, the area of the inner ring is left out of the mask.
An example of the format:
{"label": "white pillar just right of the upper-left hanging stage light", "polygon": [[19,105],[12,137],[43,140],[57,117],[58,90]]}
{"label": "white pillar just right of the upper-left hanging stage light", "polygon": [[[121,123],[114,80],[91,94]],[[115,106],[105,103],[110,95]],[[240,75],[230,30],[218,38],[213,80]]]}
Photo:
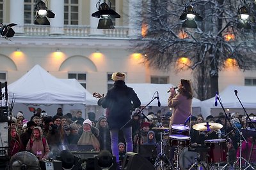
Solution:
{"label": "white pillar just right of the upper-left hanging stage light", "polygon": [[55,13],[54,18],[48,18],[51,25],[51,35],[64,34],[64,0],[50,2],[51,6],[47,6],[47,8]]}

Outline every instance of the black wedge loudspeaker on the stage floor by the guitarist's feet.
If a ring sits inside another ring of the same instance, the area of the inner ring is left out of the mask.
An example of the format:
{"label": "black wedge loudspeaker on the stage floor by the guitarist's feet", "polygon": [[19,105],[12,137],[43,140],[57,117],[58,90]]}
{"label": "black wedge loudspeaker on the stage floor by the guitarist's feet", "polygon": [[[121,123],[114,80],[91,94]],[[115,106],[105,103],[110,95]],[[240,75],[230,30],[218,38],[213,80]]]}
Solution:
{"label": "black wedge loudspeaker on the stage floor by the guitarist's feet", "polygon": [[134,152],[125,153],[122,170],[154,170],[154,166],[147,159]]}

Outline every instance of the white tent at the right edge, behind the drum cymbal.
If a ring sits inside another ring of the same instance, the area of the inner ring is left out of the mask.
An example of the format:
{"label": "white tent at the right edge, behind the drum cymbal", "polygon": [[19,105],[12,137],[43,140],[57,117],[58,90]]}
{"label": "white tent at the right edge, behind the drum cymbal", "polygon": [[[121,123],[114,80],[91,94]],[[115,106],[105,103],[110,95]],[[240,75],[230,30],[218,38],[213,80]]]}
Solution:
{"label": "white tent at the right edge, behind the drum cymbal", "polygon": [[[244,108],[256,108],[256,87],[239,85],[229,85],[226,89],[220,92],[219,95],[224,108],[242,108],[234,90],[237,90],[237,96]],[[221,108],[219,101],[218,106],[215,106],[214,104],[215,97],[202,101],[202,113],[211,115],[211,108]]]}

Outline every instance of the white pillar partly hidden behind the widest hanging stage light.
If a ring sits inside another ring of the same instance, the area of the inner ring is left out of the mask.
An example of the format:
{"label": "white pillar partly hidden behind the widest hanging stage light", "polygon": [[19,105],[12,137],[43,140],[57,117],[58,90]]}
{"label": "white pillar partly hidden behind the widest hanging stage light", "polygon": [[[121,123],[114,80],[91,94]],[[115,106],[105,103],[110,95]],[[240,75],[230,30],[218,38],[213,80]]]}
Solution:
{"label": "white pillar partly hidden behind the widest hanging stage light", "polygon": [[[103,36],[104,35],[102,29],[97,29],[100,18],[92,17],[92,13],[94,13],[95,11],[98,10],[96,8],[96,4],[98,2],[99,2],[98,0],[90,0],[90,27],[91,27],[90,36]],[[103,2],[104,1],[102,1],[101,3],[103,3]]]}

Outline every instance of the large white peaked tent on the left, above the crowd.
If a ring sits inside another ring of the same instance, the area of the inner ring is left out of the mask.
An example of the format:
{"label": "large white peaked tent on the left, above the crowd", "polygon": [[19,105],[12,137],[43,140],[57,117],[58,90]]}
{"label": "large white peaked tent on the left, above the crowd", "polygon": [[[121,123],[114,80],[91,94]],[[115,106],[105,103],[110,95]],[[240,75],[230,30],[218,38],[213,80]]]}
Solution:
{"label": "large white peaked tent on the left, above the crowd", "polygon": [[15,98],[15,103],[86,104],[85,90],[63,83],[39,65],[8,85],[8,94],[9,99]]}

